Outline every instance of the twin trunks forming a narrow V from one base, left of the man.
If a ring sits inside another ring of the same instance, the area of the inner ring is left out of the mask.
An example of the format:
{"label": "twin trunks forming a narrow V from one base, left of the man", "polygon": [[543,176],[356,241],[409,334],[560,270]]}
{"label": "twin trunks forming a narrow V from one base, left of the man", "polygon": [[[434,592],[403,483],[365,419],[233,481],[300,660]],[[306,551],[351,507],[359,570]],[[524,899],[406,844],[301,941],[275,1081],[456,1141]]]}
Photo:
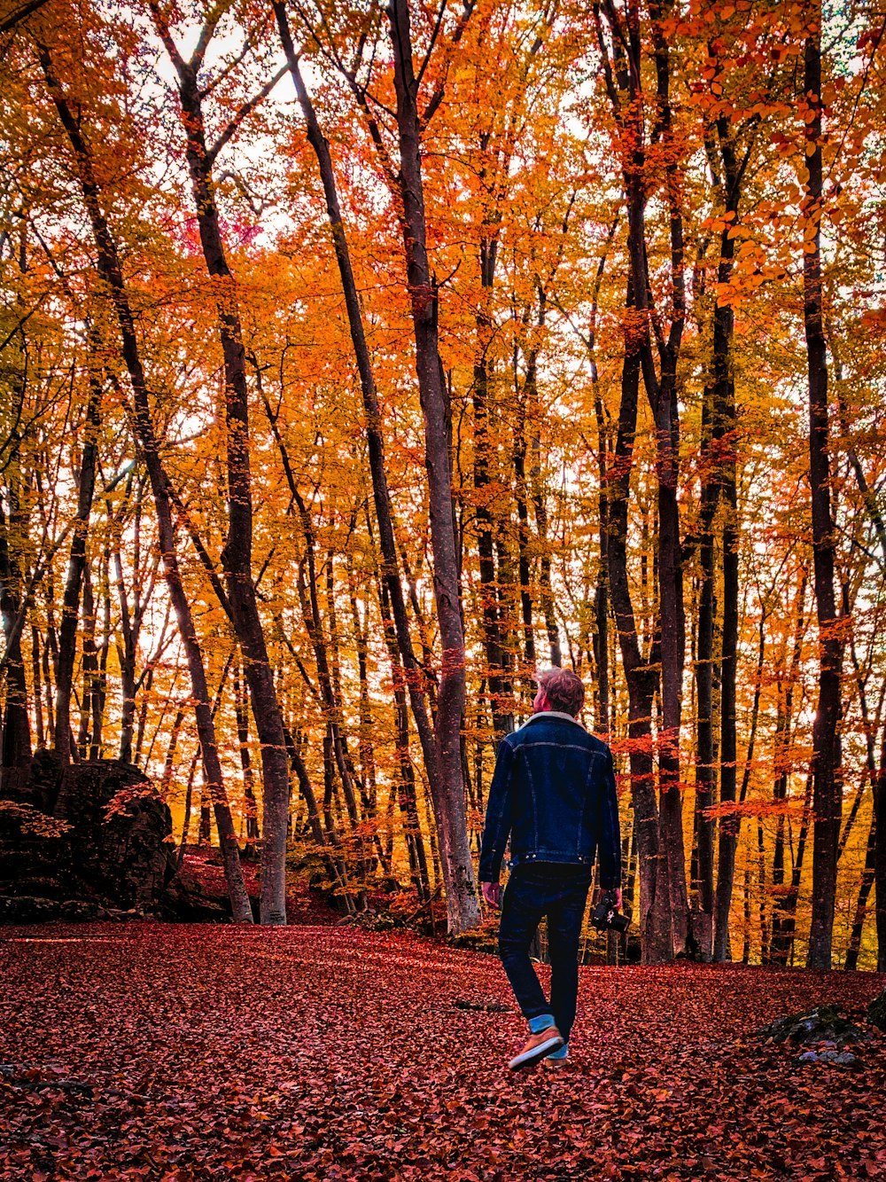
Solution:
{"label": "twin trunks forming a narrow V from one base, left of the man", "polygon": [[403,168],[403,233],[412,296],[418,387],[425,414],[425,455],[431,502],[431,545],[435,556],[435,597],[443,643],[439,708],[436,719],[436,735],[434,736],[422,693],[422,674],[409,635],[391,521],[378,396],[363,330],[347,239],[341,222],[328,144],[320,131],[298,69],[298,58],[292,45],[285,6],[275,4],[274,11],[289,71],[307,122],[308,139],[320,165],[367,418],[370,472],[379,527],[383,577],[390,596],[397,643],[405,665],[410,701],[424,753],[437,829],[442,834],[449,927],[455,933],[475,927],[480,913],[470,862],[464,786],[461,775],[460,729],[464,702],[464,643],[458,605],[457,556],[452,525],[449,407],[437,349],[436,293],[432,290],[424,246],[424,200],[416,110],[417,85],[412,74],[409,12],[405,5],[391,9],[391,26]]}

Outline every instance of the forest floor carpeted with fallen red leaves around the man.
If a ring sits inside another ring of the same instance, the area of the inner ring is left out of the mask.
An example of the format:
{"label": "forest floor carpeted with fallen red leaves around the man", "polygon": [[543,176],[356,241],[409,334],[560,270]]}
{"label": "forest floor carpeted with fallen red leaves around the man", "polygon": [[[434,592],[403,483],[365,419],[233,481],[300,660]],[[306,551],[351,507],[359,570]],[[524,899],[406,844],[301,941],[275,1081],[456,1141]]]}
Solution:
{"label": "forest floor carpeted with fallen red leaves around the man", "polygon": [[873,974],[584,968],[573,1061],[525,1074],[497,960],[410,934],[6,928],[0,982],[4,1182],[886,1177],[886,1035],[753,1038]]}

